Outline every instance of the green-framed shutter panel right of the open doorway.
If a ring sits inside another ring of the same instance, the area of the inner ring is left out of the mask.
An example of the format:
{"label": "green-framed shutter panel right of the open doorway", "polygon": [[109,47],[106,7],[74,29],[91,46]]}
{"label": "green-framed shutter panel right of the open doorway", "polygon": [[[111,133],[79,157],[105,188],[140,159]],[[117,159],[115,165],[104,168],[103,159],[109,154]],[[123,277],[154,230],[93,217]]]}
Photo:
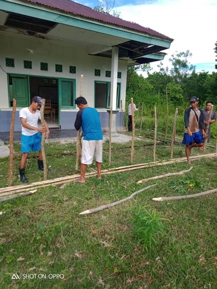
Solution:
{"label": "green-framed shutter panel right of the open doorway", "polygon": [[60,108],[75,108],[76,81],[75,79],[59,78]]}

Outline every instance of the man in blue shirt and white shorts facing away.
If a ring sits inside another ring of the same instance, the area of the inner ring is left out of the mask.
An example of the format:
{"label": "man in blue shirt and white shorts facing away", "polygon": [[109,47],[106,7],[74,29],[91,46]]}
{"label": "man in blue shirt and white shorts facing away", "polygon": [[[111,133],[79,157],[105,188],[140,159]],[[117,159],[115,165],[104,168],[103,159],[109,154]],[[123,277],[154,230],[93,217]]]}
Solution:
{"label": "man in blue shirt and white shorts facing away", "polygon": [[76,98],[75,104],[77,104],[79,111],[74,126],[76,130],[81,128],[83,132],[81,176],[75,182],[85,183],[86,167],[93,163],[93,156],[95,156],[96,160],[97,178],[101,179],[102,129],[99,112],[95,108],[89,107],[84,97]]}

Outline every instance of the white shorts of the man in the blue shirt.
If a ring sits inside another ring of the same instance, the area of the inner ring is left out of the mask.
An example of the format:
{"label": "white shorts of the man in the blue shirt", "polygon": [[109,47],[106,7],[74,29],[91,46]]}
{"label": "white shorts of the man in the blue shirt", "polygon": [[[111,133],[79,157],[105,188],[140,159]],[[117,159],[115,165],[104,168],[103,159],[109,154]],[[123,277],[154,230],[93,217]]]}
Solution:
{"label": "white shorts of the man in the blue shirt", "polygon": [[102,163],[102,139],[98,141],[82,141],[81,163],[90,165],[93,163],[93,156],[96,162]]}

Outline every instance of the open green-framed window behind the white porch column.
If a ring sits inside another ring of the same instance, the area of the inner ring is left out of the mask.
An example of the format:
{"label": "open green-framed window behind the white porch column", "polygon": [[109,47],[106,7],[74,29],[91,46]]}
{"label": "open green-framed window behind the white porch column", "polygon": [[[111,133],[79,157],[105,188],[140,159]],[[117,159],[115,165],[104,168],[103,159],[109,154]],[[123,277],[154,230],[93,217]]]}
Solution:
{"label": "open green-framed window behind the white porch column", "polygon": [[[111,94],[111,82],[95,81],[96,108],[110,108],[110,94]],[[118,82],[116,108],[120,108],[120,95],[121,95],[121,83]]]}

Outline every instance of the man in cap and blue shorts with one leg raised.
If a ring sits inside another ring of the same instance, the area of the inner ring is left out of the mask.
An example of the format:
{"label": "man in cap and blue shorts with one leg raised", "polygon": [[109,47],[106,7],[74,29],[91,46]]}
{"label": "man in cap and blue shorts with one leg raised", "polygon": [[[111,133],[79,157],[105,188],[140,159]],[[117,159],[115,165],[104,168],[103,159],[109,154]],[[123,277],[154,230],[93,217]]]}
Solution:
{"label": "man in cap and blue shorts with one leg raised", "polygon": [[[190,99],[190,107],[185,110],[184,122],[185,122],[185,134],[182,144],[185,144],[185,154],[187,157],[187,164],[190,165],[190,151],[192,148],[203,147],[203,137],[206,133],[204,131],[205,124],[203,121],[203,111],[197,107],[199,100],[193,96]],[[200,132],[202,131],[202,134]]]}

